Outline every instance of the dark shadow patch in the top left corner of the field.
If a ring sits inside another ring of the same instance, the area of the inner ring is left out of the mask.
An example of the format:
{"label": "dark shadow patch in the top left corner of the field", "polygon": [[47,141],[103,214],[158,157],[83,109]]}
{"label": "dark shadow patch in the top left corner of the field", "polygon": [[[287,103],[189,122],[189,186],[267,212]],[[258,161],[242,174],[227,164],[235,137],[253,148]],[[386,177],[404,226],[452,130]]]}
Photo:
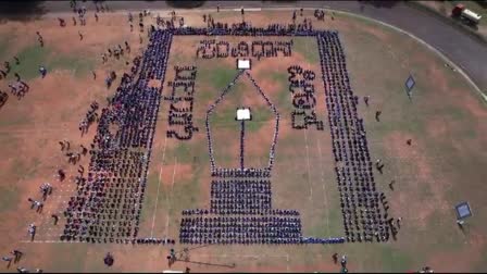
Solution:
{"label": "dark shadow patch in the top left corner of the field", "polygon": [[42,0],[33,1],[0,1],[0,23],[7,21],[27,22],[46,14]]}

